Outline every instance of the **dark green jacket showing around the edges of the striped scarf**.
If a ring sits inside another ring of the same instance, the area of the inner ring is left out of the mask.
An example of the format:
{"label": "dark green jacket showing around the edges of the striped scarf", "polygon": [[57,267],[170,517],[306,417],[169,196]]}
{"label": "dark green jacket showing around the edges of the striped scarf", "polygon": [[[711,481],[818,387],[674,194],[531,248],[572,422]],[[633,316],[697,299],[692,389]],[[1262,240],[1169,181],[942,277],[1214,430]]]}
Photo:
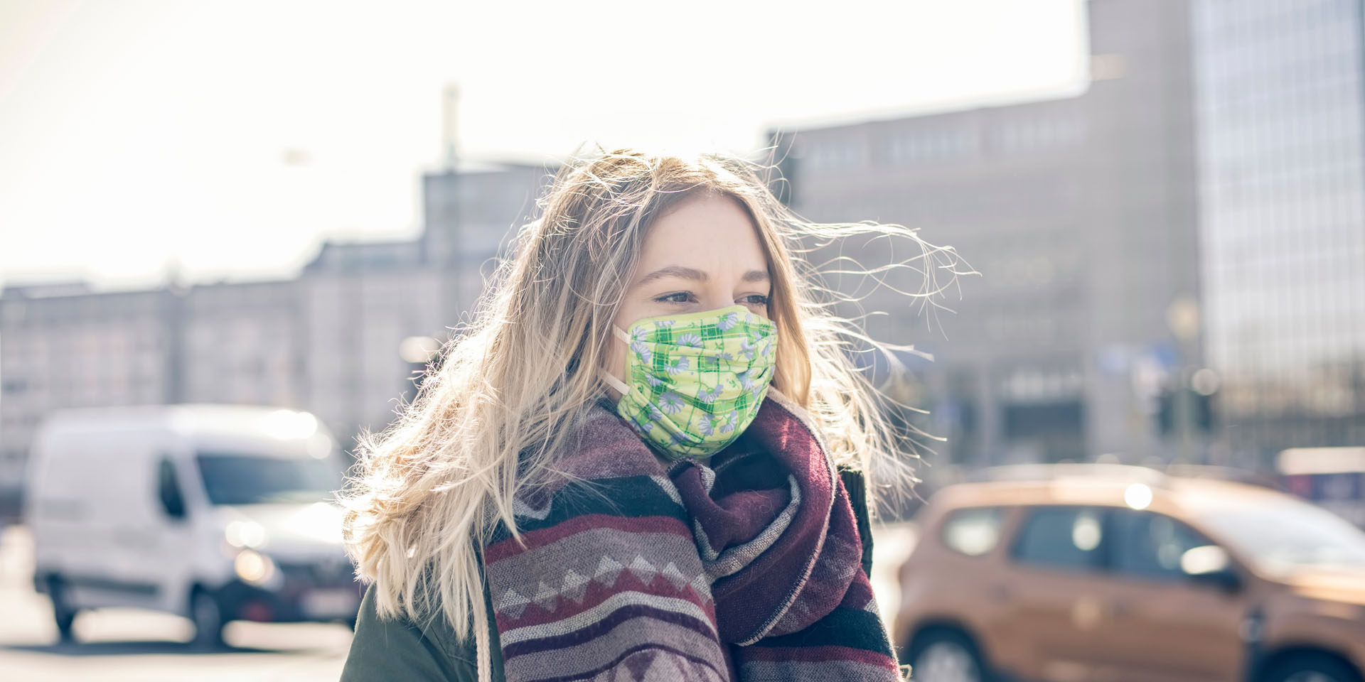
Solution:
{"label": "dark green jacket showing around the edges of the striped scarf", "polygon": [[[872,533],[867,513],[867,494],[863,475],[852,469],[839,469],[844,487],[849,492],[853,514],[857,517],[859,535],[863,539],[863,570],[872,574]],[[487,584],[485,584],[486,587]],[[489,591],[483,591],[487,612],[493,612]],[[502,682],[502,651],[498,647],[498,632],[489,619],[489,641],[493,647],[493,679]],[[382,621],[374,608],[374,587],[364,592],[360,602],[360,615],[351,640],[351,653],[341,670],[341,682],[374,681],[441,681],[478,682],[479,667],[474,657],[474,638],[460,641],[450,623],[440,614],[426,625],[410,619]]]}

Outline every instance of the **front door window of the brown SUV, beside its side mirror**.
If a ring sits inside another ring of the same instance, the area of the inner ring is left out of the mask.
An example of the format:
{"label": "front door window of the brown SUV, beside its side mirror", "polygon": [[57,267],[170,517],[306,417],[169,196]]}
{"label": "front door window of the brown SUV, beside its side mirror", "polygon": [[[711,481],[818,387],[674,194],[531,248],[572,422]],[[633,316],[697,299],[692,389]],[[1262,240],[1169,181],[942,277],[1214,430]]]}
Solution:
{"label": "front door window of the brown SUV, beside its side mirror", "polygon": [[1213,544],[1190,527],[1152,512],[1115,509],[1111,531],[1114,573],[1129,577],[1182,580],[1185,552]]}

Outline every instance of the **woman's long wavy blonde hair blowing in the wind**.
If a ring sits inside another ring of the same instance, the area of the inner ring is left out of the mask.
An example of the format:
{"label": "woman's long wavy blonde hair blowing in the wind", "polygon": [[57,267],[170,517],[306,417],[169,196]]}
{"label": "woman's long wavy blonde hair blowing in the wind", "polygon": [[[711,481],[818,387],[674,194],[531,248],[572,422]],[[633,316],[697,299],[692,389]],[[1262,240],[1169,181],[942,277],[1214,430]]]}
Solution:
{"label": "woman's long wavy blonde hair blowing in the wind", "polygon": [[489,679],[478,548],[498,521],[519,536],[513,496],[545,479],[575,420],[602,394],[597,368],[651,221],[699,192],[737,199],[767,252],[779,340],[774,386],[809,411],[834,460],[863,469],[871,491],[909,487],[912,471],[898,456],[905,434],[849,352],[890,346],[837,316],[838,296],[793,254],[852,235],[905,237],[920,247],[928,276],[916,296],[942,291],[934,271],[953,271],[956,254],[900,225],[803,221],[774,198],[759,175],[767,168],[725,154],[621,149],[558,170],[536,202],[541,217],[519,231],[515,255],[500,265],[472,323],[442,348],[440,368],[393,424],[359,439],[341,495],[345,544],[360,578],[374,582],[381,618],[444,612],[461,640],[478,623],[479,679]]}

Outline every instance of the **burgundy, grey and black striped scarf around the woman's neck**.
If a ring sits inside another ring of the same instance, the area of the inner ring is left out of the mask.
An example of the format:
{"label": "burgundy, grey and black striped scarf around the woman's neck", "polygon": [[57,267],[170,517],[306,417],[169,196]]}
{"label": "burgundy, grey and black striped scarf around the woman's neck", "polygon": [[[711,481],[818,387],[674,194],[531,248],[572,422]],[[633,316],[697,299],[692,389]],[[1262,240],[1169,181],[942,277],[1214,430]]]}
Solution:
{"label": "burgundy, grey and black striped scarf around the woman's neck", "polygon": [[900,681],[848,492],[770,391],[708,462],[666,466],[594,405],[513,505],[485,576],[516,682]]}

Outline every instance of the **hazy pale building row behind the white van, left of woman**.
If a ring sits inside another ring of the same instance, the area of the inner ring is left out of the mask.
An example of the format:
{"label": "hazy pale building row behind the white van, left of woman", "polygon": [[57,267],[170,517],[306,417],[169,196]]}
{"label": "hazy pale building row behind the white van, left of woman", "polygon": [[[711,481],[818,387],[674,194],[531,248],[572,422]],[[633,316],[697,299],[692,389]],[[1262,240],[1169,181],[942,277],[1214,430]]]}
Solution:
{"label": "hazy pale building row behind the white van, left of woman", "polygon": [[231,402],[307,409],[345,446],[414,393],[408,337],[445,341],[553,170],[467,164],[423,177],[426,228],[403,241],[325,243],[298,278],[0,295],[0,498],[14,498],[52,409]]}

